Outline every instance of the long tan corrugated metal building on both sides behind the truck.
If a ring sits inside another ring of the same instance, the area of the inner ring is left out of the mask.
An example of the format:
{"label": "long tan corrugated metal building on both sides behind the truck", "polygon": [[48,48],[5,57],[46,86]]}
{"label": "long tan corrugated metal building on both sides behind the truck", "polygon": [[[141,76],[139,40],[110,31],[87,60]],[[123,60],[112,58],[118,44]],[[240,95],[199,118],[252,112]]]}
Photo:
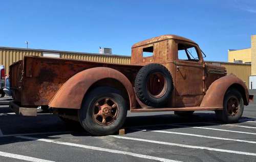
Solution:
{"label": "long tan corrugated metal building on both sides behind the truck", "polygon": [[[35,49],[19,49],[0,47],[0,64],[5,65],[6,74],[9,73],[9,65],[13,62],[22,60],[25,55],[43,56],[44,53],[59,54],[60,58],[78,59],[96,62],[110,62],[118,64],[131,64],[131,56],[122,55],[104,55],[93,53],[67,52],[55,50],[35,50]],[[251,75],[251,65],[243,63],[216,62],[206,61],[207,64],[216,64],[226,67],[228,74],[234,74],[242,79],[246,85],[249,84],[249,76]]]}

